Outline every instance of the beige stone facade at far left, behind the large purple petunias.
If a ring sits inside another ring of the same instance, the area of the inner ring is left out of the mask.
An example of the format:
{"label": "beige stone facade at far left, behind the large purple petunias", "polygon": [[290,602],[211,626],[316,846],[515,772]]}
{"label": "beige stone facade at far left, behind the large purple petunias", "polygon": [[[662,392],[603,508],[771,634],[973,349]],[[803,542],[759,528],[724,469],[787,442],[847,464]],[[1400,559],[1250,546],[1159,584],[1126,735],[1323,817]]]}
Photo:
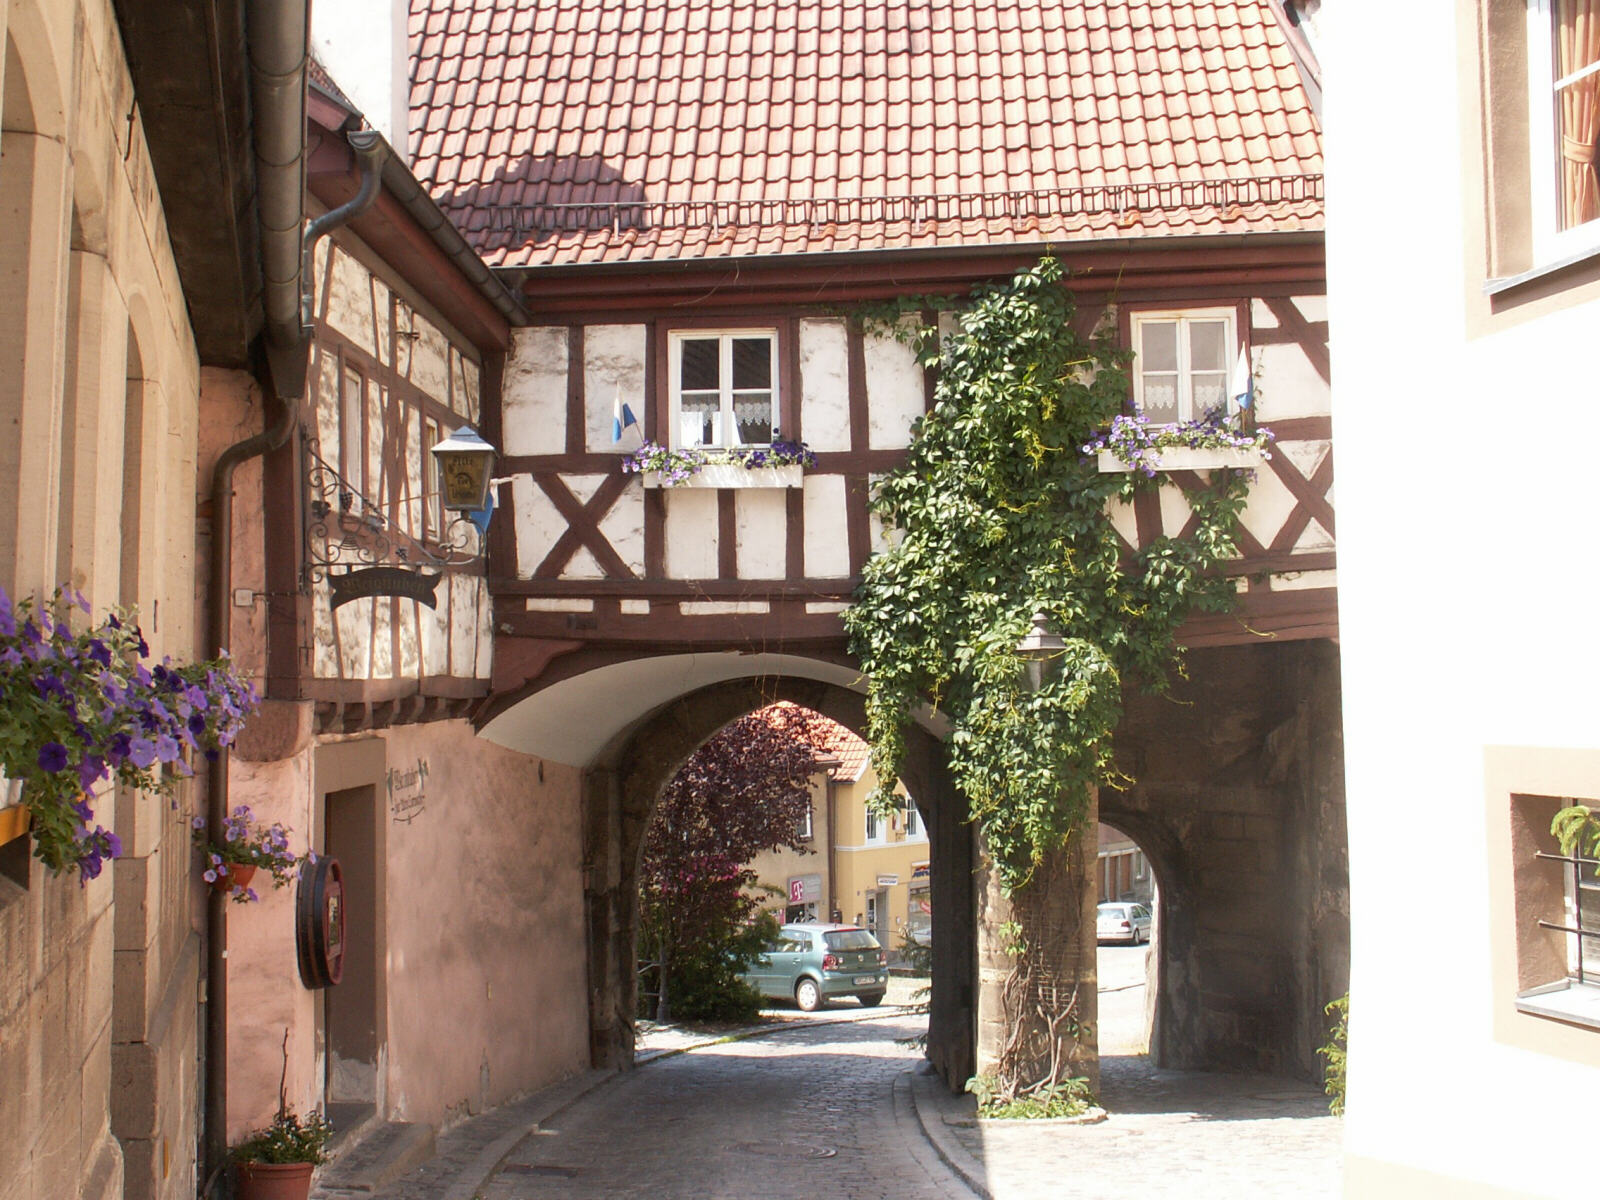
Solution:
{"label": "beige stone facade at far left, behind the large purple petunias", "polygon": [[[109,0],[0,8],[0,584],[136,605],[192,658],[198,363]],[[78,886],[0,846],[0,1197],[192,1197],[187,789],[96,798]]]}

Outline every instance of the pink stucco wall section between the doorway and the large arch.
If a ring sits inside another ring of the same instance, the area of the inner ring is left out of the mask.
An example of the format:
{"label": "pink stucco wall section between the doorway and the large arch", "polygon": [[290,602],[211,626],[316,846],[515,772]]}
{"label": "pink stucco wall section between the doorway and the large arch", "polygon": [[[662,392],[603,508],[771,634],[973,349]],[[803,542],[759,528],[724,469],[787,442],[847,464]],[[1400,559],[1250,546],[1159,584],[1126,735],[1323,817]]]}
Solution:
{"label": "pink stucco wall section between the doorway and the large arch", "polygon": [[589,1066],[579,779],[464,722],[387,741],[429,763],[389,826],[389,1107],[442,1125]]}

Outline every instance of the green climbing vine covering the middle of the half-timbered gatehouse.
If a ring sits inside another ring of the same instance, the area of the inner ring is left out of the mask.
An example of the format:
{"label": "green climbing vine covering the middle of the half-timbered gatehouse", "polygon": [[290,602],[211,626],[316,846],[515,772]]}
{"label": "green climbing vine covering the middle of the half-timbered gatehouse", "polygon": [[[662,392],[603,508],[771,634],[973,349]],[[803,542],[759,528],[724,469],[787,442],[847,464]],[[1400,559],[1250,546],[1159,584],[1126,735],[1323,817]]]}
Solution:
{"label": "green climbing vine covering the middle of the half-timbered gatehouse", "polygon": [[[1178,626],[1221,611],[1248,474],[1216,470],[1189,493],[1197,522],[1128,557],[1107,504],[1171,486],[1101,474],[1094,438],[1128,411],[1131,354],[1080,336],[1054,259],[981,290],[958,330],[917,342],[938,368],[934,405],[875,509],[891,549],[866,566],[845,624],[869,678],[867,733],[888,805],[912,710],[952,723],[950,768],[1002,886],[1027,885],[1117,782],[1112,730],[1125,680],[1163,688],[1182,669]],[[1066,646],[1035,691],[1018,642],[1042,611]]]}

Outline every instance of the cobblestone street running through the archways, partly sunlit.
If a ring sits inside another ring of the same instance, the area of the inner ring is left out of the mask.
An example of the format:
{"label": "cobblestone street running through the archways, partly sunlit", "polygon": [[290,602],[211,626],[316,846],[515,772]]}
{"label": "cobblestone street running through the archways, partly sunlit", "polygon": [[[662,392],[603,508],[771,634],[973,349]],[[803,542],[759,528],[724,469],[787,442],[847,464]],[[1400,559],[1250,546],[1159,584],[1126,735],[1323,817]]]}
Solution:
{"label": "cobblestone street running through the archways, partly sunlit", "polygon": [[[1341,1125],[1312,1085],[1157,1070],[1144,950],[1101,949],[1098,1125],[976,1122],[899,1045],[923,1018],[840,1003],[771,1010],[736,1040],[642,1026],[637,1070],[458,1126],[374,1200],[1331,1200]],[[894,979],[891,1002],[914,981]],[[750,1034],[755,1034],[750,1037]],[[542,1110],[552,1115],[534,1115]],[[354,1192],[325,1189],[322,1197]]]}

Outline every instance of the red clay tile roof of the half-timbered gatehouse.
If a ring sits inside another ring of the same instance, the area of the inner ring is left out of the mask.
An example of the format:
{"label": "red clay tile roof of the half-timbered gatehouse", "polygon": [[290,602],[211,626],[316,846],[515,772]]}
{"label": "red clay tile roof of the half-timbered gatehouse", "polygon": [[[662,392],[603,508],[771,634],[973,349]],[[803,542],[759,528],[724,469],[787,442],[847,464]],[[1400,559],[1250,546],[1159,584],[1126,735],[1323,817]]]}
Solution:
{"label": "red clay tile roof of the half-timbered gatehouse", "polygon": [[411,0],[496,266],[1320,229],[1267,0]]}

